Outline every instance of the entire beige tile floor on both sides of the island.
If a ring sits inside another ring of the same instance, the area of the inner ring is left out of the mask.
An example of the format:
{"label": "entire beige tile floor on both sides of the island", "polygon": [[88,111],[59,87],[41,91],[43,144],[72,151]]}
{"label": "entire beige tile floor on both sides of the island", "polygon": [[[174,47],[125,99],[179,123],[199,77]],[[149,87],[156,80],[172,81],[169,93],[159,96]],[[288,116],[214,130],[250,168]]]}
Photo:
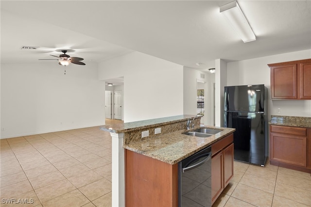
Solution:
{"label": "entire beige tile floor on both sides of the island", "polygon": [[[1,207],[111,206],[111,137],[99,127],[0,141]],[[234,178],[213,207],[311,206],[310,173],[234,165]]]}

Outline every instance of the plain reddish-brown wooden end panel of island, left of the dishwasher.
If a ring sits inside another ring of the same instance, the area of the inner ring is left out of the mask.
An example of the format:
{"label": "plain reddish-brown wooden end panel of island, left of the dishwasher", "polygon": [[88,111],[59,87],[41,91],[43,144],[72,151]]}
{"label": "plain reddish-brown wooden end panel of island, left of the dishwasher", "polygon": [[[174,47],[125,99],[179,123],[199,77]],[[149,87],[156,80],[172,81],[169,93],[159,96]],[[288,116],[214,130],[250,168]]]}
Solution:
{"label": "plain reddish-brown wooden end panel of island, left of the dishwasher", "polygon": [[125,150],[125,206],[177,207],[178,164]]}

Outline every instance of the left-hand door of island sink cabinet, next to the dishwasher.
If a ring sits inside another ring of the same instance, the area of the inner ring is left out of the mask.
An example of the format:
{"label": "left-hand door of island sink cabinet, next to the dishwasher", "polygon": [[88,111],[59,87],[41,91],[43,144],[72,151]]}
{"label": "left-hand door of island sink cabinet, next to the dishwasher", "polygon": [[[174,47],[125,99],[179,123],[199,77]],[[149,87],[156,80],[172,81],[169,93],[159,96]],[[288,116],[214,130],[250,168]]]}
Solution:
{"label": "left-hand door of island sink cabinet, next to the dishwasher", "polygon": [[212,204],[224,190],[223,151],[212,157]]}

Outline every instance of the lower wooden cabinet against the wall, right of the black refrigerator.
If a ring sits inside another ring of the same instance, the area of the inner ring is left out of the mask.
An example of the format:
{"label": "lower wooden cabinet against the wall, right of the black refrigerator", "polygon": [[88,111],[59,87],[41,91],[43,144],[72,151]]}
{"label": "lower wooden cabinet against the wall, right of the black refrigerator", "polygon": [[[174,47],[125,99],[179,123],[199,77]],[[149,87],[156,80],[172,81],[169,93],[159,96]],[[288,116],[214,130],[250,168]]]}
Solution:
{"label": "lower wooden cabinet against the wall, right of the black refrigerator", "polygon": [[311,173],[309,130],[301,127],[271,125],[270,163]]}

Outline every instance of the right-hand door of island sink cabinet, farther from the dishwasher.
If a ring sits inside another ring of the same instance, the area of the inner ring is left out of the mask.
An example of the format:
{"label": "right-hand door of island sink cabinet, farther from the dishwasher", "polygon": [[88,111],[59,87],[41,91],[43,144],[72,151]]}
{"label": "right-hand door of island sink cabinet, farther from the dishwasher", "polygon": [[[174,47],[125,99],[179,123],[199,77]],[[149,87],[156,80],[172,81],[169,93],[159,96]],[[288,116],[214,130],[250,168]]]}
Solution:
{"label": "right-hand door of island sink cabinet, farther from the dishwasher", "polygon": [[233,177],[233,143],[226,147],[223,151],[224,154],[224,188],[229,184]]}

